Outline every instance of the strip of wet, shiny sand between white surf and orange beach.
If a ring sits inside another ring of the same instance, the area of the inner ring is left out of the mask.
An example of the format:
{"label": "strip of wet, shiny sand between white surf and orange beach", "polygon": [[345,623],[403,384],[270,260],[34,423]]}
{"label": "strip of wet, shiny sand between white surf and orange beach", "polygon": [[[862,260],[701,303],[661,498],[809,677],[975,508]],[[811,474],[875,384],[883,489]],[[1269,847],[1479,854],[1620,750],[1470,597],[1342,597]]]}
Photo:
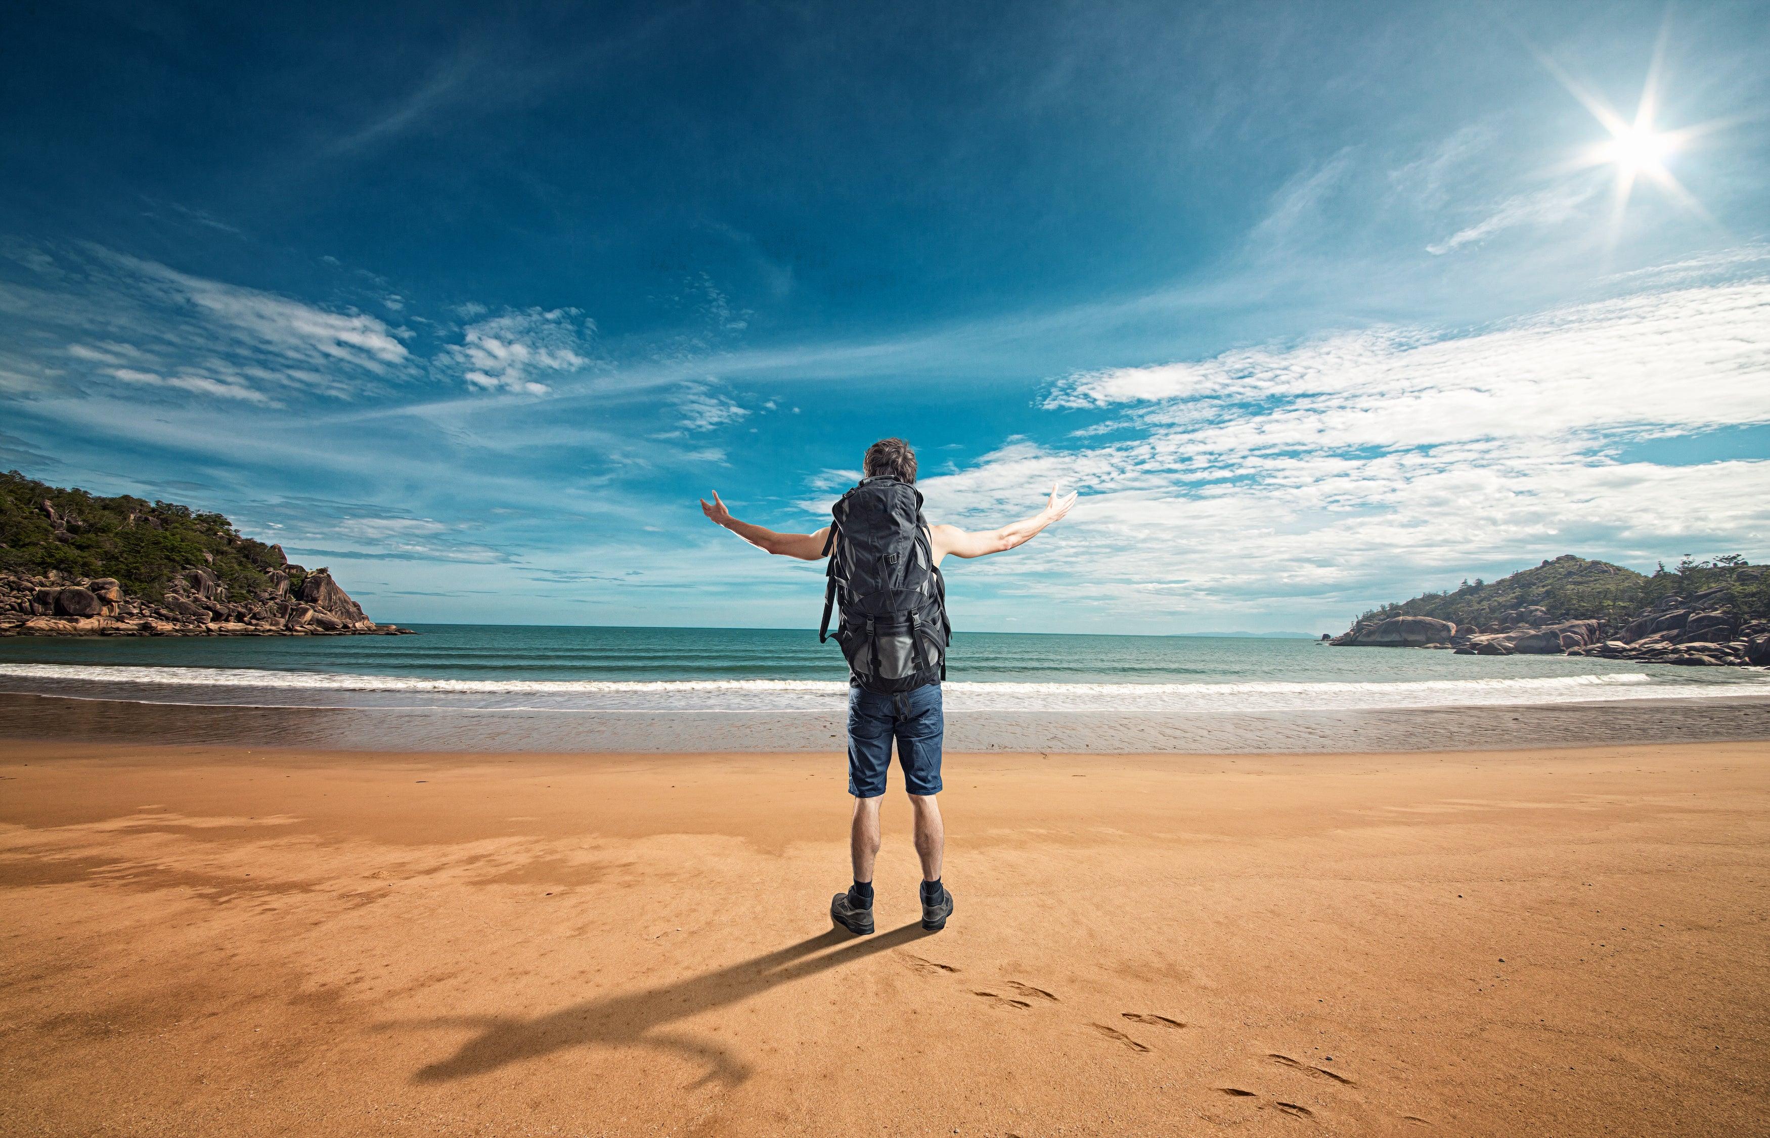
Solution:
{"label": "strip of wet, shiny sand between white surf and orange beach", "polygon": [[[381,752],[843,750],[846,713],[289,708],[0,692],[0,738]],[[1342,754],[1770,740],[1770,696],[1266,713],[947,711],[950,752]]]}

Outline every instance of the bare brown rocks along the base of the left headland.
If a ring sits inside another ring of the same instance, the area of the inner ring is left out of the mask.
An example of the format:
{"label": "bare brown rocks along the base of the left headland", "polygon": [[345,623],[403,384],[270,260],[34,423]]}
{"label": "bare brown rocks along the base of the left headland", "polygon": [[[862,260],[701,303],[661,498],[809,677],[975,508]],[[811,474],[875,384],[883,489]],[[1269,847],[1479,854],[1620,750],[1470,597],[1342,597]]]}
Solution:
{"label": "bare brown rocks along the base of the left headland", "polygon": [[[65,522],[65,515],[58,520]],[[287,566],[287,561],[285,561]],[[0,635],[396,635],[363,614],[327,570],[266,573],[251,596],[230,596],[209,568],[172,577],[158,602],[131,596],[115,577],[0,573]],[[301,575],[290,596],[292,572]]]}

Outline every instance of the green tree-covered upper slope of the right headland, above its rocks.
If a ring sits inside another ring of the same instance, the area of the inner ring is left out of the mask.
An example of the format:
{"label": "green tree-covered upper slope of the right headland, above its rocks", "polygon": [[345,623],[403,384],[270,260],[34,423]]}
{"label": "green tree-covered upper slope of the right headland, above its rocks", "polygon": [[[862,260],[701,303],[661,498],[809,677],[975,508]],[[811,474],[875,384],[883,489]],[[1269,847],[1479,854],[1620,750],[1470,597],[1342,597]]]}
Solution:
{"label": "green tree-covered upper slope of the right headland, above its rocks", "polygon": [[1770,618],[1770,573],[1743,557],[1694,561],[1685,557],[1674,568],[1658,566],[1651,575],[1637,573],[1609,561],[1588,561],[1563,554],[1501,577],[1499,581],[1464,581],[1444,593],[1423,593],[1412,600],[1374,609],[1359,625],[1391,616],[1430,616],[1457,625],[1487,628],[1513,625],[1522,614],[1540,609],[1538,619],[1607,619],[1623,625],[1637,612],[1655,609],[1667,598],[1697,602],[1708,609],[1726,609],[1745,619]]}

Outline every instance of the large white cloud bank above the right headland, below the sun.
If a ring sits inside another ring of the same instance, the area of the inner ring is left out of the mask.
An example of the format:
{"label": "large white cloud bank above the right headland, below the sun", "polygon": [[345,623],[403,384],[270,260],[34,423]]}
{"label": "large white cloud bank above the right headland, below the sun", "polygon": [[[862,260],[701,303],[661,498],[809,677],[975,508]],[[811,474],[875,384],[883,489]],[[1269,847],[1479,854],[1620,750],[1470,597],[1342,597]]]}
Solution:
{"label": "large white cloud bank above the right headland, below the sun", "polygon": [[1641,439],[1770,423],[1765,278],[1087,372],[1046,407],[1113,418],[1074,450],[1011,441],[922,488],[933,515],[981,526],[1080,485],[1037,554],[979,568],[1053,600],[1349,616],[1561,552],[1770,552],[1770,460],[1623,460]]}

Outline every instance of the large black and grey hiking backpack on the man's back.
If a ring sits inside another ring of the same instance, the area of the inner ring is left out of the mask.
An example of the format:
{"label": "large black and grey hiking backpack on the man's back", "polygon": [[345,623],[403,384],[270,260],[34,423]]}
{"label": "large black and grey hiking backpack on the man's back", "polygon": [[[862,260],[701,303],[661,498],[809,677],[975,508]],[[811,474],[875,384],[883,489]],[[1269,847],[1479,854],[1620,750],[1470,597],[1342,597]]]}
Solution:
{"label": "large black and grey hiking backpack on the man's back", "polygon": [[892,696],[945,680],[952,627],[922,492],[896,478],[862,478],[830,513],[818,642],[830,639],[830,609],[841,600],[835,642],[853,683]]}

